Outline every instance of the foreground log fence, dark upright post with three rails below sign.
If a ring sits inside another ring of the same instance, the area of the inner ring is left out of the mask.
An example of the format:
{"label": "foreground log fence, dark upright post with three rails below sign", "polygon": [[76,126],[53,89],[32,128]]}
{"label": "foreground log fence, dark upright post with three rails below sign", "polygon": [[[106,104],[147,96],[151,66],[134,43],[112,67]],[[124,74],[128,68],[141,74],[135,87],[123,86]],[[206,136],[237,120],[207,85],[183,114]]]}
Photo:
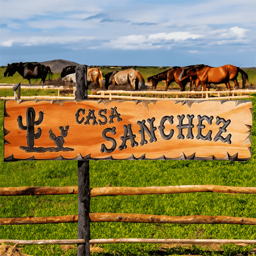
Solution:
{"label": "foreground log fence, dark upright post with three rails below sign", "polygon": [[[87,66],[76,68],[76,100],[87,99]],[[133,92],[134,93],[134,92]],[[186,92],[187,93],[187,92]],[[102,95],[103,96],[103,95]],[[0,196],[78,194],[78,215],[54,217],[1,218],[1,225],[46,224],[78,222],[78,239],[76,240],[6,240],[15,244],[77,244],[78,256],[90,255],[90,244],[107,243],[154,243],[154,244],[256,244],[256,240],[226,239],[90,239],[90,222],[135,222],[135,223],[179,223],[179,224],[241,224],[256,225],[256,218],[231,216],[164,216],[128,213],[90,213],[90,197],[114,195],[141,195],[167,193],[242,193],[256,194],[256,187],[228,187],[215,185],[190,185],[167,187],[89,187],[89,160],[78,160],[78,186],[69,187],[4,187]]]}

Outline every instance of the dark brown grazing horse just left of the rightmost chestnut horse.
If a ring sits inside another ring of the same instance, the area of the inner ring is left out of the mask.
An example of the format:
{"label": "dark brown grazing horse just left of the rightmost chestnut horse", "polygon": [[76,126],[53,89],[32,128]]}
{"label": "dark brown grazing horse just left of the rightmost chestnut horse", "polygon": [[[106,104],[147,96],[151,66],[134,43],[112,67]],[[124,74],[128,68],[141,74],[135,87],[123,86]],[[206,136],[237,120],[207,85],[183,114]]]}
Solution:
{"label": "dark brown grazing horse just left of the rightmost chestnut horse", "polygon": [[182,73],[184,68],[181,68],[180,66],[174,66],[171,69],[168,69],[162,73],[159,73],[157,75],[150,76],[148,78],[148,82],[152,82],[152,86],[155,87],[158,84],[159,81],[165,81],[165,91],[168,90],[169,85],[171,82],[176,82],[180,88],[181,91],[185,91],[185,86],[187,82],[190,82],[190,90],[192,90],[193,83],[198,84],[200,83],[199,79],[194,78],[193,76],[186,76],[180,81],[178,78],[180,74]]}

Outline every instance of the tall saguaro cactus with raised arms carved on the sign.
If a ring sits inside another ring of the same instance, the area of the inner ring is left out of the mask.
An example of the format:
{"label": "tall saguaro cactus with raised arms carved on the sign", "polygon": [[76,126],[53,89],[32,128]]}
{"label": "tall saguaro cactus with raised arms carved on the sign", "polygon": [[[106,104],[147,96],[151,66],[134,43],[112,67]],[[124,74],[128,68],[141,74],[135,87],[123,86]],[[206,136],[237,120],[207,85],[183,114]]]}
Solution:
{"label": "tall saguaro cactus with raised arms carved on the sign", "polygon": [[22,124],[22,116],[18,116],[18,118],[17,118],[18,127],[21,130],[27,130],[27,145],[28,145],[29,149],[34,148],[34,139],[40,138],[40,136],[42,134],[41,128],[37,128],[37,133],[34,133],[34,126],[42,123],[43,115],[44,115],[44,113],[42,111],[40,111],[38,120],[35,121],[36,111],[34,110],[34,108],[29,107],[26,112],[26,121],[27,121],[26,126],[24,126]]}

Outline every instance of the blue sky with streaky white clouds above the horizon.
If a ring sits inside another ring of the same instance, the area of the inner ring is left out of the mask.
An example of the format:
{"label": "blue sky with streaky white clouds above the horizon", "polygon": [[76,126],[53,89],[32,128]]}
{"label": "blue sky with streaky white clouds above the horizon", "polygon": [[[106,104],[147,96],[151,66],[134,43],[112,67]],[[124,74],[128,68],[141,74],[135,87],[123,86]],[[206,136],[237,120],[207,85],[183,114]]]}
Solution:
{"label": "blue sky with streaky white clouds above the horizon", "polygon": [[0,65],[256,66],[256,1],[1,0]]}

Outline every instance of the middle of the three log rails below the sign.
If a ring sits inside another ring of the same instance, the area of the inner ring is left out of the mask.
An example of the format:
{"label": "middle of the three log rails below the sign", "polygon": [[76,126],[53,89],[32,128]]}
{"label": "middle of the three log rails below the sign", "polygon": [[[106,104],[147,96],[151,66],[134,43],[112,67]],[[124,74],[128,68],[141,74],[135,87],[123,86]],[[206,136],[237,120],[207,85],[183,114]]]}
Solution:
{"label": "middle of the three log rails below the sign", "polygon": [[[165,216],[130,213],[90,213],[91,222],[137,222],[137,223],[172,223],[172,224],[241,224],[256,225],[256,218],[231,216]],[[78,215],[58,217],[21,217],[1,218],[1,225],[48,224],[78,222]]]}

